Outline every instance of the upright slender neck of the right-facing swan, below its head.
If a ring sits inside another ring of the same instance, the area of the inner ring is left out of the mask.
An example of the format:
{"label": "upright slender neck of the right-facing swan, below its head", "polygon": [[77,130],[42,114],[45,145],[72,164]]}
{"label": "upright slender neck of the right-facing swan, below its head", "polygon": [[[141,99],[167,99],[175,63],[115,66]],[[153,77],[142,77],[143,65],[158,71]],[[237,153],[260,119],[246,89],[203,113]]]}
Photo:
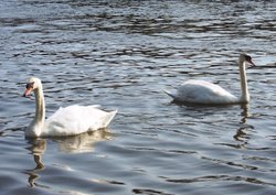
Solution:
{"label": "upright slender neck of the right-facing swan, below its head", "polygon": [[241,88],[242,88],[241,101],[248,102],[250,101],[250,93],[248,93],[248,87],[247,87],[245,62],[240,59],[238,67],[240,67]]}

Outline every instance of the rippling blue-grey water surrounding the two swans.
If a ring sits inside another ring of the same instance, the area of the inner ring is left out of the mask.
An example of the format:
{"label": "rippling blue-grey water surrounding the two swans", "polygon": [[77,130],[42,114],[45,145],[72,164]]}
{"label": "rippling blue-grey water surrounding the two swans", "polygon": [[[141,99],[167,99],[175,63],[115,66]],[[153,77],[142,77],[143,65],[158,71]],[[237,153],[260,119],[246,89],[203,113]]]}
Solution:
{"label": "rippling blue-grey water surrounding the two swans", "polygon": [[[0,2],[1,194],[275,194],[274,1]],[[240,93],[252,55],[251,104],[190,107],[162,89],[189,78]],[[43,80],[46,115],[99,104],[108,129],[25,139]]]}

